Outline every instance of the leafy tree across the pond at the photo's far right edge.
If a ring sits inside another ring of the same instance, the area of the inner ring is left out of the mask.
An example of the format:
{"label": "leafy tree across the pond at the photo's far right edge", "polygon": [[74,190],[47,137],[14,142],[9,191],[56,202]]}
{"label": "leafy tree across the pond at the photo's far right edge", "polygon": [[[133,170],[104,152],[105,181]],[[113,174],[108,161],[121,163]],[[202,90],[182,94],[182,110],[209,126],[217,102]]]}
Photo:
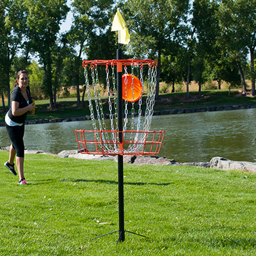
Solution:
{"label": "leafy tree across the pond at the photo's far right edge", "polygon": [[[222,40],[225,40],[241,70],[241,60],[250,52],[251,94],[255,95],[256,0],[223,0],[220,3]],[[241,72],[240,72],[241,73]],[[241,73],[241,77],[243,72]]]}

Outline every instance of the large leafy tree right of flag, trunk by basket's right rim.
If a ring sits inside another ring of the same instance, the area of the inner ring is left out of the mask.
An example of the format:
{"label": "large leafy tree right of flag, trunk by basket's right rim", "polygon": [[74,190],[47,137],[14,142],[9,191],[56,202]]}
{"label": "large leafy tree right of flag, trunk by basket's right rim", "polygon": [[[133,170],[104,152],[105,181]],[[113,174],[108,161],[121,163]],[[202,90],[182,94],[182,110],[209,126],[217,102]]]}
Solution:
{"label": "large leafy tree right of flag, trunk by basket's right rim", "polygon": [[[157,88],[159,95],[159,80],[161,70],[161,54],[168,42],[175,40],[179,26],[186,21],[189,1],[179,0],[129,0],[125,4],[125,17],[129,17],[127,25],[131,31],[131,47],[147,42],[141,52],[148,52],[148,58],[157,55]],[[135,45],[134,45],[135,44]],[[142,47],[143,45],[138,45]]]}

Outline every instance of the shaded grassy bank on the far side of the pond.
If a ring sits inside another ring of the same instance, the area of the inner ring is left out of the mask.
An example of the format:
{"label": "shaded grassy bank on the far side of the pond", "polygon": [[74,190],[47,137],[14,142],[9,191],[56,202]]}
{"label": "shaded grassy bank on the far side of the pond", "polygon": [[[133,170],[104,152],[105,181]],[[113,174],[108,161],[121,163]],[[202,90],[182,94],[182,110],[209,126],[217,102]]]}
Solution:
{"label": "shaded grassy bank on the far side of the pond", "polygon": [[[160,99],[156,102],[154,110],[180,109],[180,108],[200,108],[205,106],[223,106],[239,104],[256,104],[256,97],[242,96],[237,90],[209,90],[202,92],[202,98],[198,99],[197,92],[190,92],[190,100],[186,100],[186,93],[166,93],[161,94]],[[44,118],[65,118],[74,116],[90,115],[88,101],[86,99],[85,108],[76,108],[76,99],[58,99],[57,109],[49,111],[49,100],[36,100],[36,113],[28,116],[28,120]],[[3,106],[0,105],[0,122],[4,120],[4,113],[1,111]],[[104,108],[108,108],[104,105]]]}

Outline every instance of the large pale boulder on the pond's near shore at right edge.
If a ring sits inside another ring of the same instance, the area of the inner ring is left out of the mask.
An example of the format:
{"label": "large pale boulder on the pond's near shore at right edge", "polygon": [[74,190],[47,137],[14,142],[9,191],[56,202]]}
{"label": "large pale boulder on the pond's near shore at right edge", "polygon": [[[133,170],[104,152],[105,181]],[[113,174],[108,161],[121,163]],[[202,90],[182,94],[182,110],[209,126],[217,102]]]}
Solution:
{"label": "large pale boulder on the pond's near shore at right edge", "polygon": [[223,157],[213,157],[211,159],[211,168],[221,170],[243,170],[245,172],[256,173],[256,163],[231,161]]}

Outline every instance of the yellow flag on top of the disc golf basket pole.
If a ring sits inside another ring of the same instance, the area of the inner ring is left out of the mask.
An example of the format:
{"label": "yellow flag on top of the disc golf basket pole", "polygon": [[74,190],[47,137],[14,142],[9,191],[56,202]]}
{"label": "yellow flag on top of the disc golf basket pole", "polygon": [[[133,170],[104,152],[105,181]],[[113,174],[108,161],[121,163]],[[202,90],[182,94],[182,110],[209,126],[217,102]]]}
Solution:
{"label": "yellow flag on top of the disc golf basket pole", "polygon": [[116,11],[111,31],[118,31],[118,44],[129,44],[130,34],[119,10]]}

